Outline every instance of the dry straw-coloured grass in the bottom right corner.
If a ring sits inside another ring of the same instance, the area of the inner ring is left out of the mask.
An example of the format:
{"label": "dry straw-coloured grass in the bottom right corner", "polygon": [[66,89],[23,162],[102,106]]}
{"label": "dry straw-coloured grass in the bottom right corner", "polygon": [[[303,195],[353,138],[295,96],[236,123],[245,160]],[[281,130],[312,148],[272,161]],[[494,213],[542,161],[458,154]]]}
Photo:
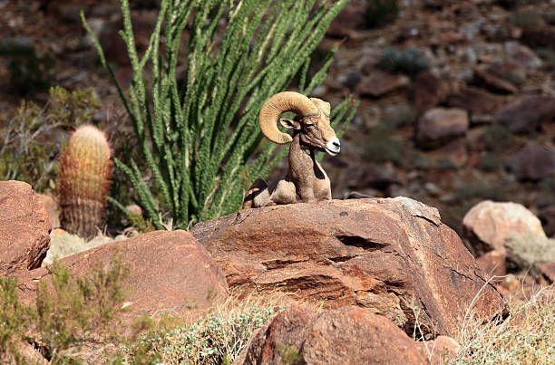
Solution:
{"label": "dry straw-coloured grass in the bottom right corner", "polygon": [[509,316],[483,322],[469,311],[454,364],[555,364],[555,286],[510,298]]}

